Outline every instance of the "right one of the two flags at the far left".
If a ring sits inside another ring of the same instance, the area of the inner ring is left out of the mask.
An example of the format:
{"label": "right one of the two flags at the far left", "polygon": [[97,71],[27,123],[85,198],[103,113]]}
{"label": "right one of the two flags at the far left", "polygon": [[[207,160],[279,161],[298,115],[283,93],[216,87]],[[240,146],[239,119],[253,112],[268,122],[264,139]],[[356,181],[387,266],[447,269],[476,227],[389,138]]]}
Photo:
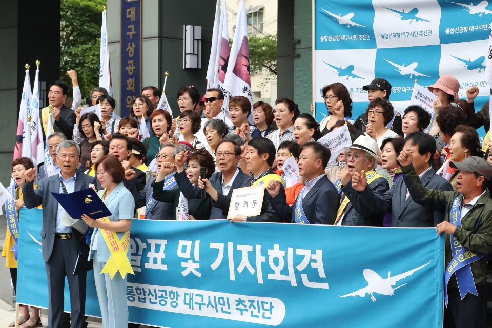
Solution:
{"label": "right one of the two flags at the far left", "polygon": [[34,78],[32,100],[29,111],[29,115],[31,115],[31,158],[34,166],[37,166],[44,161],[45,155],[45,146],[43,144],[43,127],[41,124],[41,118],[39,117],[39,66],[36,69],[36,77]]}

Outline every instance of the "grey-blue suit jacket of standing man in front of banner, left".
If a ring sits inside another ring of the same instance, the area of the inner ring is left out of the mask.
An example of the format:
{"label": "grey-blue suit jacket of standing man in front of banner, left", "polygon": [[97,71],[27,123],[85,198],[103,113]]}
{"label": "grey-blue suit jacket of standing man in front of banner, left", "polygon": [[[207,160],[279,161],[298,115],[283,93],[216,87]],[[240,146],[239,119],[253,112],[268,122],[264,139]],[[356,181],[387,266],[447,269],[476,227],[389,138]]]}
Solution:
{"label": "grey-blue suit jacket of standing man in front of banner, left", "polygon": [[[89,183],[91,182],[91,176],[77,172],[74,191],[89,188]],[[34,183],[32,181],[31,183],[24,183],[22,187],[24,204],[28,209],[43,205],[43,230],[41,230],[39,235],[43,243],[43,259],[45,262],[48,262],[55,242],[56,214],[58,212],[58,202],[51,195],[51,192],[60,192],[59,175],[52,175],[37,181],[36,190],[33,189],[33,186]],[[79,251],[86,247],[85,238],[80,240],[78,238],[72,238],[72,240]]]}

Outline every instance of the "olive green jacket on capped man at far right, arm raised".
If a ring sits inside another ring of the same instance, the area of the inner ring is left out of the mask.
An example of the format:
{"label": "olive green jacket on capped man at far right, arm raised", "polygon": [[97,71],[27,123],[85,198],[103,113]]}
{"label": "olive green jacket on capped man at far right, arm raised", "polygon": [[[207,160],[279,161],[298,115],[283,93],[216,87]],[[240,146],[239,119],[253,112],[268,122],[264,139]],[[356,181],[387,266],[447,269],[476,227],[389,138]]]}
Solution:
{"label": "olive green jacket on capped man at far right, arm raised", "polygon": [[[449,222],[453,200],[458,197],[463,202],[463,196],[457,191],[425,189],[419,176],[415,173],[413,165],[402,167],[401,171],[413,201],[422,206],[434,208],[436,211],[444,212],[444,219]],[[445,265],[448,265],[453,256],[450,249],[450,236],[448,234],[445,236]],[[492,199],[490,199],[488,190],[485,190],[477,203],[461,218],[461,227],[456,227],[454,236],[467,250],[483,255],[480,260],[471,263],[471,272],[476,285],[485,283],[488,254],[492,252]],[[449,280],[448,286],[451,288],[458,286],[455,275]]]}

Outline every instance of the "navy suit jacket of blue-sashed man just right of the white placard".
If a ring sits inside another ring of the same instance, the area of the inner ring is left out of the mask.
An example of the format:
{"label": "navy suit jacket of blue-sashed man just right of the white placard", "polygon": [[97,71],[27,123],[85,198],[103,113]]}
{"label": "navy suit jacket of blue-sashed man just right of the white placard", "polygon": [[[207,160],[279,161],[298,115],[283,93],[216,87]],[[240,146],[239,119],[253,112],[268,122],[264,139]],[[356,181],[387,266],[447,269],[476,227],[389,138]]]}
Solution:
{"label": "navy suit jacket of blue-sashed man just right of the white placard", "polygon": [[[267,192],[267,191],[265,191]],[[302,193],[302,191],[301,191]],[[300,196],[298,196],[300,197]],[[280,218],[296,223],[296,203],[291,206],[276,196],[270,199]],[[311,224],[333,224],[338,210],[338,192],[326,175],[319,179],[302,200],[302,209]]]}

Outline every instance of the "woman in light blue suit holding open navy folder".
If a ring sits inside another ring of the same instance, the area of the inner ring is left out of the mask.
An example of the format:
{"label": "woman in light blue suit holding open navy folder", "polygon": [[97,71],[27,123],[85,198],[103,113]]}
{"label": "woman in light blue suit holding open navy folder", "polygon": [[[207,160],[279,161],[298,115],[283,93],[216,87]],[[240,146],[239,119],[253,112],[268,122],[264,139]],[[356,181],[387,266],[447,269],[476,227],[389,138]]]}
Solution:
{"label": "woman in light blue suit holding open navy folder", "polygon": [[[113,215],[109,221],[93,220],[86,214],[83,220],[94,228],[91,237],[89,259],[94,259],[94,280],[97,298],[103,316],[104,328],[121,328],[128,325],[128,306],[126,298],[127,276],[116,272],[113,279],[109,273],[101,273],[111,253],[103,237],[104,231],[116,232],[121,240],[125,232],[130,231],[134,215],[132,194],[123,185],[125,170],[119,160],[113,156],[103,156],[95,166],[96,177],[104,190],[98,192]],[[121,240],[122,241],[122,240]],[[123,246],[125,249],[125,246]],[[130,245],[126,243],[126,254],[130,261]]]}

